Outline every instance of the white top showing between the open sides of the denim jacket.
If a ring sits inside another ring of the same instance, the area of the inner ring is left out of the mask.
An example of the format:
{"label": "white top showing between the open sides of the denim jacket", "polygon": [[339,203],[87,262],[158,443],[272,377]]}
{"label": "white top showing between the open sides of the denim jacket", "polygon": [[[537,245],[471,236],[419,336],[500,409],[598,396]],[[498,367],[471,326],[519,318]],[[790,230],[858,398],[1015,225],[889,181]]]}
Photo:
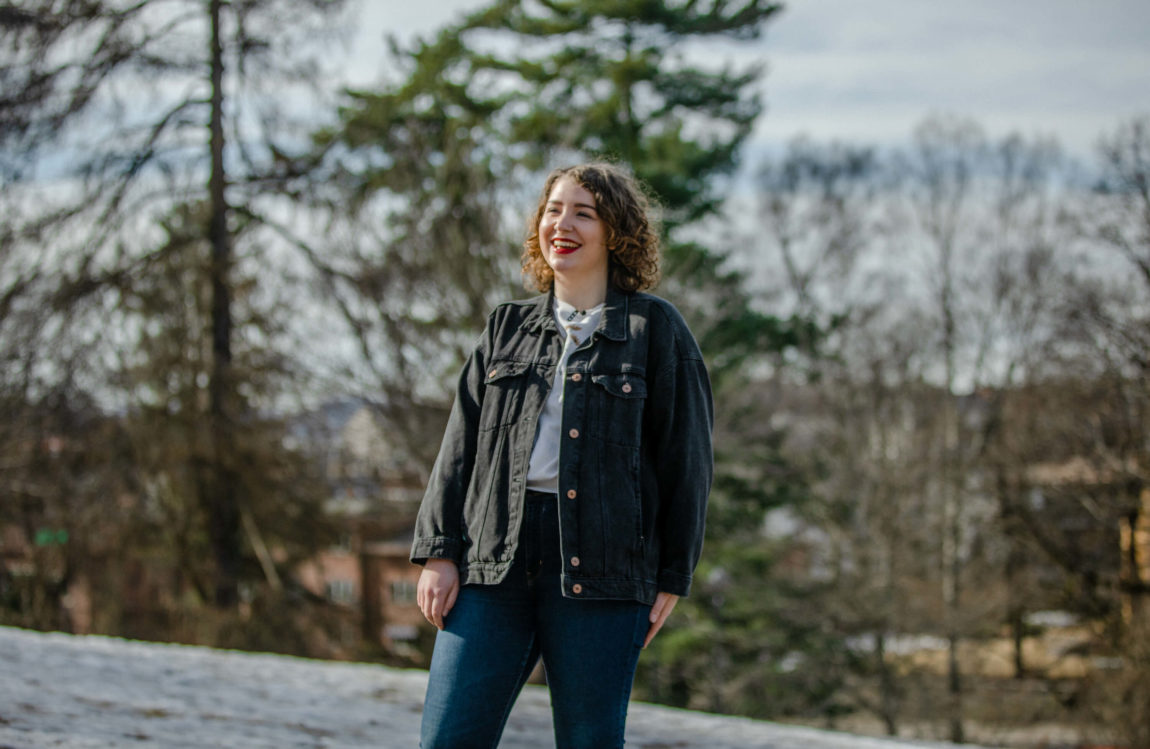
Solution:
{"label": "white top showing between the open sides of the denim jacket", "polygon": [[564,428],[564,383],[567,382],[567,359],[572,352],[591,338],[591,334],[603,316],[603,306],[586,311],[576,309],[566,301],[555,299],[553,313],[564,336],[564,352],[555,367],[555,379],[551,383],[547,402],[539,413],[531,461],[527,468],[527,488],[532,491],[559,492],[559,442]]}

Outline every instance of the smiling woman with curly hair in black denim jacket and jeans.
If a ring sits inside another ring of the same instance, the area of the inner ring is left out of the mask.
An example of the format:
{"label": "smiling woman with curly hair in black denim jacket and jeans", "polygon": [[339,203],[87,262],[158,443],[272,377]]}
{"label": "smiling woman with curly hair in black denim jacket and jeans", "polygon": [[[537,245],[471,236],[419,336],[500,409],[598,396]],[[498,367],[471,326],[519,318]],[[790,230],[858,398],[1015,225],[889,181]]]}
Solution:
{"label": "smiling woman with curly hair in black denim jacket and jeans", "polygon": [[439,629],[423,749],[496,747],[540,655],[558,747],[623,744],[639,650],[690,589],[713,465],[698,345],[642,293],[658,269],[632,177],[547,177],[523,252],[544,293],[488,319],[416,521]]}

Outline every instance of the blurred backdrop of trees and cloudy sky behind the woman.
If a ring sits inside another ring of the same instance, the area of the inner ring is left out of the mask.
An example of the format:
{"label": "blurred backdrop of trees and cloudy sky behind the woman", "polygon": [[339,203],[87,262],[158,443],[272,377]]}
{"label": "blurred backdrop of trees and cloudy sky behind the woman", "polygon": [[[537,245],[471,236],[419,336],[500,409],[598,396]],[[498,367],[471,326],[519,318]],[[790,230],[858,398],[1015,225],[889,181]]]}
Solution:
{"label": "blurred backdrop of trees and cloudy sky behind the woman", "polygon": [[421,666],[411,527],[545,173],[716,397],[635,697],[1150,747],[1150,6],[0,5],[0,624]]}

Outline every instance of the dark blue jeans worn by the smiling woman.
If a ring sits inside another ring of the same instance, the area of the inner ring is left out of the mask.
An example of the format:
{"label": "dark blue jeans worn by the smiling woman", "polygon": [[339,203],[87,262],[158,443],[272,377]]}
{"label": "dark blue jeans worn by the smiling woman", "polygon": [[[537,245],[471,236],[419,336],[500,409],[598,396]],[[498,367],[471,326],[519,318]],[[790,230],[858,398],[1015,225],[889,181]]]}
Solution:
{"label": "dark blue jeans worn by the smiling woman", "polygon": [[623,746],[651,606],[565,598],[555,496],[528,492],[507,578],[470,584],[436,635],[422,749],[493,749],[540,655],[558,749]]}

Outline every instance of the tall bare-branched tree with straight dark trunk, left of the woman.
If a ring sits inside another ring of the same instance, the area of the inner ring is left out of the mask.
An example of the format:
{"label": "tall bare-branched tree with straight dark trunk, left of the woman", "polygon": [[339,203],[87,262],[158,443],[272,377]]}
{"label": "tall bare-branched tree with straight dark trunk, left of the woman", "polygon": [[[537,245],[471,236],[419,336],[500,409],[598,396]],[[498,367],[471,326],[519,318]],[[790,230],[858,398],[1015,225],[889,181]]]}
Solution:
{"label": "tall bare-branched tree with straight dark trunk, left of the woman", "polygon": [[[131,330],[147,324],[116,308],[117,295],[162,265],[166,253],[209,247],[210,262],[201,267],[213,298],[204,320],[212,331],[205,388],[210,480],[197,500],[215,567],[208,595],[223,609],[239,596],[246,499],[233,456],[251,406],[233,367],[235,274],[238,262],[271,254],[259,252],[259,232],[248,231],[251,244],[238,257],[237,223],[246,217],[251,226],[251,216],[275,211],[269,188],[293,169],[285,155],[293,132],[274,98],[292,86],[307,90],[302,84],[317,70],[304,54],[307,37],[340,6],[30,0],[3,8],[10,106],[0,138],[13,155],[0,169],[10,182],[3,208],[13,221],[2,257],[16,258],[20,269],[5,298],[26,296],[34,281],[36,301],[52,311],[30,336],[47,362],[40,372],[51,372],[48,352],[63,342],[99,339],[89,377],[108,400],[114,366],[107,362]],[[273,81],[279,85],[268,91]],[[305,145],[297,140],[297,150]],[[166,215],[199,202],[207,207],[206,243],[164,243]],[[235,206],[244,206],[244,216]],[[48,252],[38,251],[44,244]],[[101,324],[109,311],[123,327]]]}

